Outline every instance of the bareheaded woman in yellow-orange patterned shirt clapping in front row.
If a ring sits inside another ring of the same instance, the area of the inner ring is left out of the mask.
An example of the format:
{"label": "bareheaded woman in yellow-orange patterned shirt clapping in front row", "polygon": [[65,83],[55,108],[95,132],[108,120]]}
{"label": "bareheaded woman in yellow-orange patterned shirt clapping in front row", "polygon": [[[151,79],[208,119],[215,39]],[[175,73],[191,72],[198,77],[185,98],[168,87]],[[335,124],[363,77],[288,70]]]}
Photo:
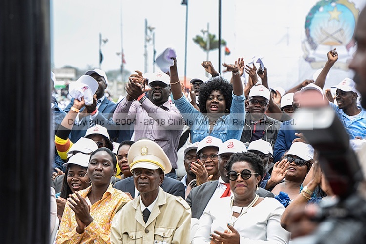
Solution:
{"label": "bareheaded woman in yellow-orange patterned shirt clapping in front row", "polygon": [[116,164],[108,148],[99,148],[90,155],[87,175],[92,185],[69,195],[56,243],[110,243],[112,219],[130,201],[110,184]]}

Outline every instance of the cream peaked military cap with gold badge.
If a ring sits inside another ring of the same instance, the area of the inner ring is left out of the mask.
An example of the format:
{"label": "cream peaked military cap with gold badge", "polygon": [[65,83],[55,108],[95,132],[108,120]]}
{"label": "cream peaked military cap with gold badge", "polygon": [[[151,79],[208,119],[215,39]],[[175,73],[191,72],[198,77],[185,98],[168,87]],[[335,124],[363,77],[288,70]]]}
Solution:
{"label": "cream peaked military cap with gold badge", "polygon": [[141,139],[132,144],[127,160],[131,172],[136,168],[150,170],[161,168],[165,174],[172,170],[172,165],[164,150],[149,139]]}

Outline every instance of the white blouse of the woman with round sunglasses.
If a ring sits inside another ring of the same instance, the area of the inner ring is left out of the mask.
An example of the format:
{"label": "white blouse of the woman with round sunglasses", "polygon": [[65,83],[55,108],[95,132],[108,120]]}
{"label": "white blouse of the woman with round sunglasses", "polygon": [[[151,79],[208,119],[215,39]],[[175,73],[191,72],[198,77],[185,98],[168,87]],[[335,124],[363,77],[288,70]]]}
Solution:
{"label": "white blouse of the woman with round sunglasses", "polygon": [[[200,218],[200,226],[191,244],[209,244],[214,230],[228,230],[230,222],[230,201],[232,197],[215,199]],[[288,244],[290,233],[281,227],[280,219],[284,206],[274,198],[264,198],[258,205],[237,219],[234,228],[240,234],[240,243],[245,244]]]}

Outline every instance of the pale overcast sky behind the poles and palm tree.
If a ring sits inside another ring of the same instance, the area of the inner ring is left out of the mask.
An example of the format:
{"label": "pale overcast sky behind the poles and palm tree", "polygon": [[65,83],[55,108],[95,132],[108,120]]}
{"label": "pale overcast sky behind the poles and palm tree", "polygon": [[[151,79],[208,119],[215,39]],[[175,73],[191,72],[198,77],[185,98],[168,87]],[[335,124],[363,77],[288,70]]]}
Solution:
{"label": "pale overcast sky behind the poles and palm tree", "polygon": [[[224,56],[223,48],[222,62],[233,63],[237,57],[246,61],[253,56],[264,57],[269,81],[284,88],[305,77],[311,78],[316,69],[302,64],[302,42],[306,15],[316,2],[222,0],[222,38],[231,50],[229,56]],[[353,2],[363,7],[366,0]],[[146,18],[155,27],[157,54],[166,47],[175,48],[178,71],[183,76],[186,7],[181,5],[181,0],[53,0],[52,7],[53,67],[98,67],[101,33],[103,39],[108,39],[102,46],[102,69],[119,69],[121,57],[116,53],[121,52],[122,36],[125,69],[144,71]],[[206,53],[192,38],[202,34],[200,30],[206,29],[207,23],[210,32],[218,35],[218,0],[189,0],[188,10],[187,77],[203,76],[201,62],[206,59]],[[148,44],[149,72],[152,72],[152,55],[151,42]],[[217,57],[217,51],[210,53],[216,69]]]}

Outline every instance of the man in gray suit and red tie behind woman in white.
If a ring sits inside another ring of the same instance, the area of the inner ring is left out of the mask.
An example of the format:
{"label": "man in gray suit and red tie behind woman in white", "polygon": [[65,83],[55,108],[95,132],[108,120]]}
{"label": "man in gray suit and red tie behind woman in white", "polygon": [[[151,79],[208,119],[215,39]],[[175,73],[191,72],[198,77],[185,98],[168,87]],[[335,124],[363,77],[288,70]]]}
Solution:
{"label": "man in gray suit and red tie behind woman in white", "polygon": [[[220,198],[223,195],[223,187],[226,188],[227,183],[229,183],[229,179],[226,176],[227,171],[225,169],[228,159],[234,153],[246,151],[244,143],[235,139],[227,140],[222,144],[218,153],[219,180],[209,181],[193,188],[186,199],[192,210],[192,218],[199,219],[201,217],[204,209],[213,196],[213,198]],[[230,194],[230,189],[224,191]],[[274,197],[273,193],[263,188],[259,188],[256,193],[260,197]]]}

